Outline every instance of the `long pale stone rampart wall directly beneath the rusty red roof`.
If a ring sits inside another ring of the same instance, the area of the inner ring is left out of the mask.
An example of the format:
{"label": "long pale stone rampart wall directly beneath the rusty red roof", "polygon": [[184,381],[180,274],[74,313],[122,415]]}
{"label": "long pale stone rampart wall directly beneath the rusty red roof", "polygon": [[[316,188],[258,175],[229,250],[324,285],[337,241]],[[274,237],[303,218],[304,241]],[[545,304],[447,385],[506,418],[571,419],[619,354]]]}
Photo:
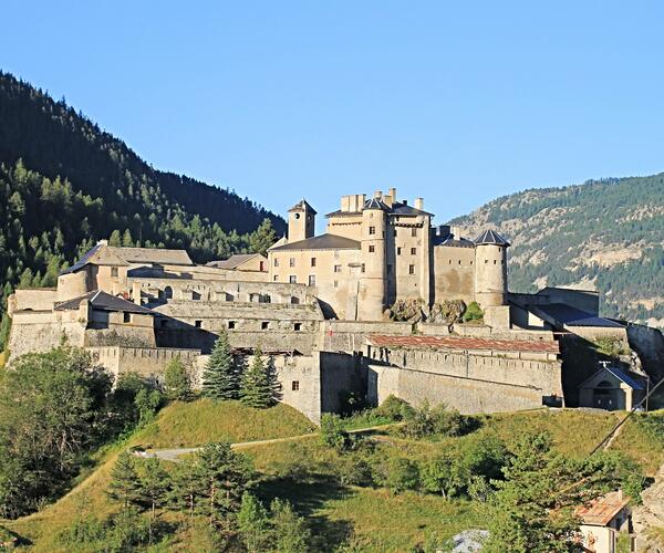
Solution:
{"label": "long pale stone rampart wall directly beneath the rusty red roof", "polygon": [[519,358],[518,352],[457,354],[440,351],[392,351],[390,359],[371,359],[369,396],[390,394],[419,405],[445,403],[461,413],[491,413],[540,407],[561,400],[559,361]]}

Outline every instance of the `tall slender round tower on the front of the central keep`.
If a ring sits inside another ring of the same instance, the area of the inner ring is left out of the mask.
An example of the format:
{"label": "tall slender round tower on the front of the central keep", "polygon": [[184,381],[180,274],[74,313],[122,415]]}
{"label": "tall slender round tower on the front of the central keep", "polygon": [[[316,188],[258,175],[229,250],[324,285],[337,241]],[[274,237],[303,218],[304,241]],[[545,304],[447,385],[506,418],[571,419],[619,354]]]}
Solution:
{"label": "tall slender round tower on the front of the central keep", "polygon": [[357,319],[381,321],[385,307],[385,230],[387,207],[381,198],[366,201],[362,211],[362,260]]}

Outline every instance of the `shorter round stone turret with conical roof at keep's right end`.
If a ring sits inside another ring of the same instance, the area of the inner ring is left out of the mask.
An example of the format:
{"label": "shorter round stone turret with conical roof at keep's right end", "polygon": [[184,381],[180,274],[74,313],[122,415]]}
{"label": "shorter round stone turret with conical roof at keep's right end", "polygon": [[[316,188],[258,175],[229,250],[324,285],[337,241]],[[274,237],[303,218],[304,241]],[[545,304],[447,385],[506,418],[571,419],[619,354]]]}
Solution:
{"label": "shorter round stone turret with conical roof at keep's right end", "polygon": [[475,239],[475,300],[483,307],[507,303],[509,242],[494,230]]}

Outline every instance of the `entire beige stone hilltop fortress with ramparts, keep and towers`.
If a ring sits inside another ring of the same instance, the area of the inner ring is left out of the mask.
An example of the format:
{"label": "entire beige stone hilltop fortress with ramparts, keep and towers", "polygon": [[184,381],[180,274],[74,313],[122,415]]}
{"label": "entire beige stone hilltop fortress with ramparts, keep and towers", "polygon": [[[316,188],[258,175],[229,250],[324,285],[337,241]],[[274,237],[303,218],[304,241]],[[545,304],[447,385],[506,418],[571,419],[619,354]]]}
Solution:
{"label": "entire beige stone hilltop fortress with ramparts, keep and towers", "polygon": [[[315,215],[302,200],[267,258],[207,265],[184,250],[101,241],[55,289],[10,298],[10,364],[66,340],[116,375],[136,372],[156,382],[179,356],[199,385],[224,330],[238,353],[260,347],[272,359],[281,400],[314,421],[343,409],[351,395],[373,404],[390,394],[412,404],[444,401],[464,413],[580,399],[625,408],[643,393],[644,367],[663,376],[662,334],[600,317],[595,292],[509,293],[509,242],[490,229],[469,240],[433,227],[423,200],[409,206],[394,188],[342,197],[318,237]],[[476,301],[484,321],[434,316],[436,304],[458,300]],[[403,301],[418,305],[418,315],[388,319]],[[570,354],[601,337],[637,355],[608,371]]]}

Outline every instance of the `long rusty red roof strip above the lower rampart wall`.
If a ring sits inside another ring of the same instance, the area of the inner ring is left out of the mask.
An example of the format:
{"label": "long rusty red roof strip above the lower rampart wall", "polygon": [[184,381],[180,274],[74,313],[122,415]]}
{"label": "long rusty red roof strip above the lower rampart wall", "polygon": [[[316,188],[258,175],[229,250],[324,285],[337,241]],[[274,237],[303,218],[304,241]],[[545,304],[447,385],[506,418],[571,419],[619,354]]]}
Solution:
{"label": "long rusty red roof strip above the lower rampart wall", "polygon": [[370,344],[377,347],[430,347],[435,349],[495,349],[504,352],[560,353],[558,342],[536,340],[491,340],[459,336],[390,336],[372,334]]}

